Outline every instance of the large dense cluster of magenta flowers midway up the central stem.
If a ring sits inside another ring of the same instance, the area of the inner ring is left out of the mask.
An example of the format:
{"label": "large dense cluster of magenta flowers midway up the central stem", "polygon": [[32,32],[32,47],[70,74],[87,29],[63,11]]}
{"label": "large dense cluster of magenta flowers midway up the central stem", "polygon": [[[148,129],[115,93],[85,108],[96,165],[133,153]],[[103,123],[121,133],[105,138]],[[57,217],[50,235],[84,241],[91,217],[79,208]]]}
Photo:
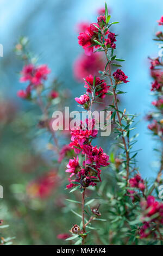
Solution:
{"label": "large dense cluster of magenta flowers midway up the central stem", "polygon": [[91,145],[91,138],[97,136],[98,131],[95,129],[95,119],[86,119],[85,123],[72,129],[71,143],[69,144],[74,149],[76,154],[82,153],[85,160],[79,164],[79,158],[74,157],[70,159],[67,164],[66,172],[71,173],[70,178],[75,176],[76,179],[71,180],[67,188],[76,186],[73,182],[80,182],[83,187],[95,186],[95,181],[101,181],[101,168],[108,166],[109,156],[103,152],[102,148],[93,147]]}

